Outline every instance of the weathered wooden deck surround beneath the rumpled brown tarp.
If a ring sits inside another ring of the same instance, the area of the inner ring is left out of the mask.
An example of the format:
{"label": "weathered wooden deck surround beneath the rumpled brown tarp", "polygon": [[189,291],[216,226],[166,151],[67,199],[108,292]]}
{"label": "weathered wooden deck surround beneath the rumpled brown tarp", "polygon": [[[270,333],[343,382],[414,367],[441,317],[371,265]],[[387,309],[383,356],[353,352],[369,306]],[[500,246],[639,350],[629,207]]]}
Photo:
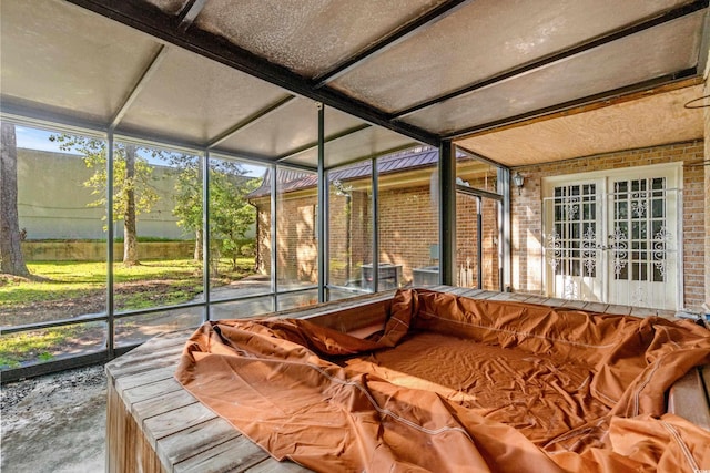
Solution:
{"label": "weathered wooden deck surround beneath the rumpled brown tarp", "polygon": [[[540,296],[437,286],[474,299],[516,300],[574,307],[616,315],[672,317],[671,311],[599,302],[549,299]],[[320,323],[355,332],[382,320],[342,317],[364,305],[383,304],[394,291],[379,292],[278,312],[284,317],[316,318]],[[331,316],[338,312],[338,316]],[[357,323],[353,326],[353,321]],[[173,378],[186,339],[194,329],[164,333],[105,367],[108,374],[106,470],[109,472],[307,472],[295,463],[277,462],[241,435],[185,391]],[[669,392],[669,412],[710,430],[710,366],[692,370]]]}

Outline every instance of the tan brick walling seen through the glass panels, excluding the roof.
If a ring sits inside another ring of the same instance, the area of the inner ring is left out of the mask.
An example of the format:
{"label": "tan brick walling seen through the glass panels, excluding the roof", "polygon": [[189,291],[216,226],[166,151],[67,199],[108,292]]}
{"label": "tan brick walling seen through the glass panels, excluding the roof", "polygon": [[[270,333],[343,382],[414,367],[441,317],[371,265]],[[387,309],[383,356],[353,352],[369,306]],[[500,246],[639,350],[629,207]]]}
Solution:
{"label": "tan brick walling seen through the glass panels, excluding the roof", "polygon": [[[402,175],[399,175],[402,177]],[[475,187],[484,182],[469,179]],[[310,195],[287,197],[278,209],[278,279],[280,281],[317,280],[317,241],[308,234],[313,220],[315,189]],[[351,202],[342,195],[329,195],[329,284],[358,285],[361,266],[372,263],[372,193],[369,188],[351,193]],[[270,271],[268,200],[258,208],[258,259],[262,273]],[[349,222],[347,218],[349,205]],[[407,184],[379,185],[379,261],[402,265],[400,285],[413,282],[414,269],[438,265],[434,246],[438,245],[438,207],[432,199],[429,177],[418,176]],[[483,287],[498,289],[498,210],[497,203],[484,199],[483,217]],[[302,229],[298,229],[301,225]],[[314,225],[314,224],[313,224]],[[477,286],[477,204],[475,198],[457,196],[457,277],[460,286]],[[307,228],[308,232],[303,232]],[[315,228],[315,227],[313,227]],[[349,257],[347,248],[349,245]],[[467,263],[468,260],[468,263]]]}

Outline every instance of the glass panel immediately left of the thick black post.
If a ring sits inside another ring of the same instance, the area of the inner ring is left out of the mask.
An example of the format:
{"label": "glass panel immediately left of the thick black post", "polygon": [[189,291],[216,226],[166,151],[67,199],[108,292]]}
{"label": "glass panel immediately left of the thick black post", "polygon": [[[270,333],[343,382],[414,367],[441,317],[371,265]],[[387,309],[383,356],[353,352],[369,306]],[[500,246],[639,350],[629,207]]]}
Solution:
{"label": "glass panel immediately left of the thick black post", "polygon": [[377,158],[378,290],[438,284],[438,152]]}

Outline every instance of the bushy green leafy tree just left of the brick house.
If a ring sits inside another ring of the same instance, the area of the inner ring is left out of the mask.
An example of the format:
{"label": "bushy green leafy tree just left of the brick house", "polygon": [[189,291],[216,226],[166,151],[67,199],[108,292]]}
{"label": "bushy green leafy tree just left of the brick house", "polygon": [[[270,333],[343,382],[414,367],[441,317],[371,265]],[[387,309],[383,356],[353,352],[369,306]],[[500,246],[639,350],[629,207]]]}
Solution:
{"label": "bushy green leafy tree just left of the brick house", "polygon": [[[195,233],[195,259],[202,259],[202,166],[197,157],[187,155],[174,156],[172,164],[181,169],[173,214],[180,217],[179,225]],[[242,241],[256,217],[246,195],[258,187],[261,179],[246,177],[245,173],[239,163],[210,163],[210,239],[217,257],[230,258],[232,270],[236,269]]]}

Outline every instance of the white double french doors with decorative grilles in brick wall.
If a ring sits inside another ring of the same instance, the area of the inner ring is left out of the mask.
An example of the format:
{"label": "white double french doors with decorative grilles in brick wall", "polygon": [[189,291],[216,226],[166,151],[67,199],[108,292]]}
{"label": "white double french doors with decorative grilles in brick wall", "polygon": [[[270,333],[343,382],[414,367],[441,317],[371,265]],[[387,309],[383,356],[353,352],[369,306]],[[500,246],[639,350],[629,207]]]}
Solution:
{"label": "white double french doors with decorative grilles in brick wall", "polygon": [[679,166],[544,179],[548,296],[678,309]]}

